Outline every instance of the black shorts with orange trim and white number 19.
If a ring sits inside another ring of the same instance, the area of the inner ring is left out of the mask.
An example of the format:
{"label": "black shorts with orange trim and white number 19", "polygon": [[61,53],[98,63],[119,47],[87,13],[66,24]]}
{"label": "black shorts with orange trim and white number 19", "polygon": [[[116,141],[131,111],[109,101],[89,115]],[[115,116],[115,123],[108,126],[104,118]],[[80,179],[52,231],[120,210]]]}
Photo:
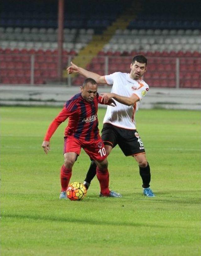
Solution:
{"label": "black shorts with orange trim and white number 19", "polygon": [[136,130],[124,129],[110,123],[104,123],[101,138],[105,145],[114,148],[117,144],[124,155],[144,154],[144,145]]}

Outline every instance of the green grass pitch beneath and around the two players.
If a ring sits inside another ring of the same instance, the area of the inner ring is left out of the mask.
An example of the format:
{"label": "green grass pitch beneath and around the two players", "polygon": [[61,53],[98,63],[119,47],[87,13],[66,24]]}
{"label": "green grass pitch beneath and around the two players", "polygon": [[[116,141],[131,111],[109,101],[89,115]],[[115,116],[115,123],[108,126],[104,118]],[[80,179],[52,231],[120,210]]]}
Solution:
{"label": "green grass pitch beneath and around the two players", "polygon": [[[1,107],[1,255],[200,256],[200,113],[137,113],[155,198],[142,195],[137,163],[116,147],[108,157],[110,188],[123,198],[99,198],[95,177],[83,201],[62,201],[66,122],[49,154],[41,148],[60,109]],[[71,182],[83,182],[89,164],[82,151]]]}

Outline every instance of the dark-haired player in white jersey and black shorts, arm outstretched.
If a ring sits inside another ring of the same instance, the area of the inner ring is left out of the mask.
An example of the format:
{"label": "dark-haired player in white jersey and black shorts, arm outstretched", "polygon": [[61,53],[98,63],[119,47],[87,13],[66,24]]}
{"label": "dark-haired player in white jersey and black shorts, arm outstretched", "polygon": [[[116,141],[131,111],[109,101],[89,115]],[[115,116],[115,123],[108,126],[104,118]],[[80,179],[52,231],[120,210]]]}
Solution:
{"label": "dark-haired player in white jersey and black shorts, arm outstretched", "polygon": [[[149,163],[146,160],[144,144],[136,130],[135,113],[139,103],[149,91],[149,86],[142,80],[147,68],[147,59],[143,55],[133,57],[130,64],[130,74],[115,72],[110,75],[100,76],[93,72],[80,68],[71,62],[67,68],[68,74],[79,73],[84,77],[93,78],[97,84],[112,85],[111,93],[104,93],[102,101],[108,102],[114,99],[116,107],[107,106],[103,120],[101,138],[109,155],[117,144],[126,156],[133,156],[139,164],[139,173],[142,178],[143,193],[145,196],[154,197],[155,194],[149,187],[151,180]],[[90,186],[91,180],[96,174],[96,165],[92,161],[84,180],[85,186]]]}

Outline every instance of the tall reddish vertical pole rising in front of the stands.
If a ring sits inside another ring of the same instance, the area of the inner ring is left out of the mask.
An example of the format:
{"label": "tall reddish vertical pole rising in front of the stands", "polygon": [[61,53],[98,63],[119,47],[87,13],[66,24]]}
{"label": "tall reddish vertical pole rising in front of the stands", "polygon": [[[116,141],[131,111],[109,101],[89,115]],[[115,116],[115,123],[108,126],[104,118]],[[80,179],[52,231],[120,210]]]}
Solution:
{"label": "tall reddish vertical pole rising in front of the stands", "polygon": [[64,0],[58,0],[58,66],[57,66],[57,74],[58,74],[59,81],[62,80],[63,19],[64,19]]}

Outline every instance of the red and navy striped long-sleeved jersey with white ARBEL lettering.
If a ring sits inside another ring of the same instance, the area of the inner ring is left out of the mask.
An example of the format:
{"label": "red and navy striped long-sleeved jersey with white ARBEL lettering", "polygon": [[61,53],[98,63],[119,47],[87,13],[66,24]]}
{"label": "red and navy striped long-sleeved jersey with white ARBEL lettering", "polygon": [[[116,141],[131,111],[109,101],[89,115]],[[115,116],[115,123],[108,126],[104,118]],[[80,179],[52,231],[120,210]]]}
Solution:
{"label": "red and navy striped long-sleeved jersey with white ARBEL lettering", "polygon": [[100,100],[98,93],[92,102],[84,100],[81,93],[74,95],[66,101],[62,111],[50,124],[44,140],[49,141],[57,127],[67,118],[69,119],[68,126],[65,128],[65,136],[72,135],[76,139],[85,141],[97,139],[99,135],[97,111]]}

